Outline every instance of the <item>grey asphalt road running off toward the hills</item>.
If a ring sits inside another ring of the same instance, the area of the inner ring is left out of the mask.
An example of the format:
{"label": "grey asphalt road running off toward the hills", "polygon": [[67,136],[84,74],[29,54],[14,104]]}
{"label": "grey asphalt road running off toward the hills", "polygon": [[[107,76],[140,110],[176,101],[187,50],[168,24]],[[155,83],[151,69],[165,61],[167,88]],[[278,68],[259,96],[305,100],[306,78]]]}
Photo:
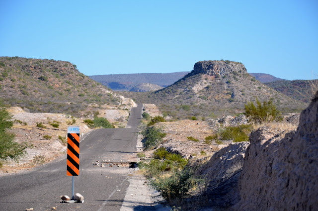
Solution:
{"label": "grey asphalt road running off toward the hills", "polygon": [[93,166],[95,161],[127,161],[136,152],[137,126],[142,105],[132,108],[126,128],[97,129],[80,141],[79,176],[75,193],[84,203],[61,204],[60,196],[71,197],[72,177],[67,176],[67,154],[32,171],[0,177],[0,211],[119,211],[129,171],[133,169]]}

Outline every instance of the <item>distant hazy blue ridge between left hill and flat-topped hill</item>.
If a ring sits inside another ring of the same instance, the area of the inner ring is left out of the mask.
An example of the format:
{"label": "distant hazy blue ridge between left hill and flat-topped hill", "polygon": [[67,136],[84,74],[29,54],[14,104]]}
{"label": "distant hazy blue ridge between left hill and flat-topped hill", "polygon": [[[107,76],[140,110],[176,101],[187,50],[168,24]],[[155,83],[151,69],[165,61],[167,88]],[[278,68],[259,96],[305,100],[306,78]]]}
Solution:
{"label": "distant hazy blue ridge between left hill and flat-topped hill", "polygon": [[129,91],[141,83],[156,84],[160,87],[167,87],[188,73],[189,72],[112,74],[88,77],[112,90]]}

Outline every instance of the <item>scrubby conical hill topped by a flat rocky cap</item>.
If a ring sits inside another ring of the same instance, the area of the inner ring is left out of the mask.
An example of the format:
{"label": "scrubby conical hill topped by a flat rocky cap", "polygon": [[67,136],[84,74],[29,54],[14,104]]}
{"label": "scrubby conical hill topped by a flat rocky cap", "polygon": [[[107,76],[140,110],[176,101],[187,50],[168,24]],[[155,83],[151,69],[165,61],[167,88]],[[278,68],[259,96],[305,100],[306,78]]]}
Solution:
{"label": "scrubby conical hill topped by a flat rocky cap", "polygon": [[[242,108],[257,97],[279,107],[302,109],[306,105],[284,96],[250,76],[243,64],[231,61],[201,61],[174,84],[149,93],[127,93],[140,103],[186,104]],[[207,107],[206,107],[207,108]]]}

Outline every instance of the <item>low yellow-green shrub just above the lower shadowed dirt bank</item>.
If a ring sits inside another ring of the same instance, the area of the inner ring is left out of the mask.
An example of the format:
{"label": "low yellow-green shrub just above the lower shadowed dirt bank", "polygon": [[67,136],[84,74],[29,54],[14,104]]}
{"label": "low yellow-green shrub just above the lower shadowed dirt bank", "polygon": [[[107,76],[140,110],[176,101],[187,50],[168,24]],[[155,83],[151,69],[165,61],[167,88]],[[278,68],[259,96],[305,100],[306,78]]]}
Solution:
{"label": "low yellow-green shrub just above the lower shadowed dirt bank", "polygon": [[248,141],[252,126],[242,124],[239,126],[226,127],[220,131],[221,140],[233,140],[233,142]]}

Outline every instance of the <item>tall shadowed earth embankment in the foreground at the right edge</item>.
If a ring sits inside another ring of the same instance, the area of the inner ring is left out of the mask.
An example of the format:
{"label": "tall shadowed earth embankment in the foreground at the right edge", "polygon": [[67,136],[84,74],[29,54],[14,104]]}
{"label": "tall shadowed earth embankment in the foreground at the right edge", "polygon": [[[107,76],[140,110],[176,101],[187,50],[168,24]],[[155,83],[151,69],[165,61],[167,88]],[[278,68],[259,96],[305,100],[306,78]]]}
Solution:
{"label": "tall shadowed earth embankment in the foreground at the right edge", "polygon": [[296,131],[264,127],[250,135],[234,210],[318,208],[318,92]]}

